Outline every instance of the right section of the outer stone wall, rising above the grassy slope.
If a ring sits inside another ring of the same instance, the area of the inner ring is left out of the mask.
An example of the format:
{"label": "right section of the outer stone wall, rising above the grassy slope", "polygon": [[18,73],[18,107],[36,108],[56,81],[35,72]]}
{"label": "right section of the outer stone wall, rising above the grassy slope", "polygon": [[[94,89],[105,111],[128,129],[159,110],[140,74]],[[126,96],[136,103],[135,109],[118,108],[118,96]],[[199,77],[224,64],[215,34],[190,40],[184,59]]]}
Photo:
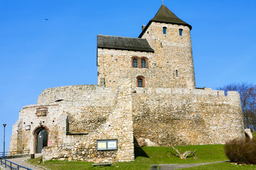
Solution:
{"label": "right section of the outer stone wall, rising above the grassy slope", "polygon": [[134,137],[140,146],[224,144],[245,137],[236,91],[225,96],[210,89],[145,88],[132,99]]}

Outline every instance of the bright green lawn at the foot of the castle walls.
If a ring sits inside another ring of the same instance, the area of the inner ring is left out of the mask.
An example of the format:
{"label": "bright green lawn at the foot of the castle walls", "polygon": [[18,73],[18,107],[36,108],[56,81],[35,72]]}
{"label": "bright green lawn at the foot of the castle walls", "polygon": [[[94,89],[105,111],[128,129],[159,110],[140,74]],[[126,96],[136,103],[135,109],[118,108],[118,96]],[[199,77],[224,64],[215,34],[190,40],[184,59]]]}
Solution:
{"label": "bright green lawn at the foot of the castle walls", "polygon": [[[38,159],[29,159],[28,162],[32,164],[39,164],[40,166],[45,166],[48,169],[60,170],[60,169],[150,169],[152,164],[196,164],[196,163],[205,163],[205,162],[219,162],[228,160],[225,157],[223,145],[189,145],[177,147],[181,149],[181,152],[186,150],[193,151],[196,149],[197,159],[193,157],[188,157],[187,159],[179,159],[174,157],[171,152],[174,152],[174,149],[171,147],[142,147],[137,148],[135,152],[135,160],[133,162],[118,162],[112,164],[110,167],[94,167],[93,163],[90,162],[68,162],[68,161],[47,161],[41,162],[40,158]],[[227,168],[225,169],[235,169],[238,167],[245,167],[248,169],[253,167],[256,169],[256,166],[239,166],[233,165],[230,163],[222,163]],[[205,169],[222,169],[218,168],[220,164],[210,164],[205,165]],[[203,166],[202,166],[203,167]],[[209,167],[209,168],[208,168]],[[235,167],[235,168],[234,168]],[[201,166],[194,167],[201,168]]]}

